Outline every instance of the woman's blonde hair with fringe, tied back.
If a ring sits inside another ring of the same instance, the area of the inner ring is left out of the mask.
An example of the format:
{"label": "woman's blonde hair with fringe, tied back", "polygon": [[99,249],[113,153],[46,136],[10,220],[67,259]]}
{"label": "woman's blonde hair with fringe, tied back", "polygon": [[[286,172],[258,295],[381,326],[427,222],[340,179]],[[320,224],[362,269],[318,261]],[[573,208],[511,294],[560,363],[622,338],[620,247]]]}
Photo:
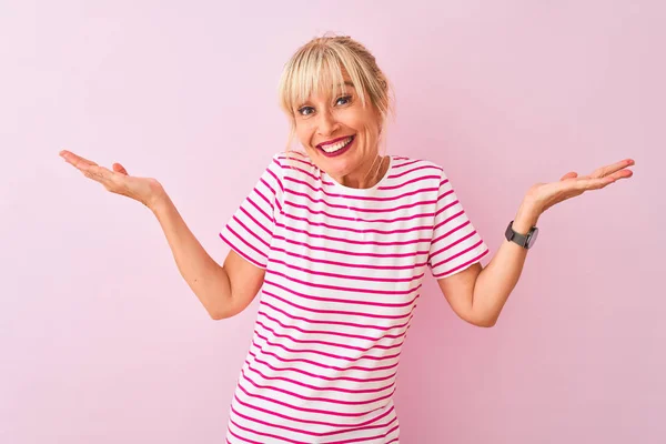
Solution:
{"label": "woman's blonde hair with fringe, tied back", "polygon": [[356,87],[363,107],[370,102],[379,114],[379,128],[366,129],[366,137],[370,141],[376,139],[380,150],[384,145],[386,121],[390,115],[395,115],[394,94],[386,75],[377,67],[374,56],[356,40],[349,36],[324,36],[314,38],[299,48],[282,71],[279,85],[280,107],[291,124],[287,153],[291,151],[296,129],[294,109],[307,100],[310,94],[331,84],[333,95],[337,95],[344,83],[343,70]]}

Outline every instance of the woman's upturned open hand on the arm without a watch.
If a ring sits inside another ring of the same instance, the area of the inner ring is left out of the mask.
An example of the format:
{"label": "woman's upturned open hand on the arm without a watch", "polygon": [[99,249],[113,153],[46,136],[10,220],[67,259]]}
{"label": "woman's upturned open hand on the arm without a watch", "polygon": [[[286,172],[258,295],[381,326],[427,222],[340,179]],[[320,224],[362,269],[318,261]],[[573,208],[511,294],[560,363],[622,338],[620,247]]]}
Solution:
{"label": "woman's upturned open hand on the arm without a watch", "polygon": [[114,163],[111,171],[67,150],[60,151],[60,157],[74,165],[84,176],[104,185],[108,191],[134,199],[151,210],[165,195],[164,189],[155,179],[131,176],[120,163]]}

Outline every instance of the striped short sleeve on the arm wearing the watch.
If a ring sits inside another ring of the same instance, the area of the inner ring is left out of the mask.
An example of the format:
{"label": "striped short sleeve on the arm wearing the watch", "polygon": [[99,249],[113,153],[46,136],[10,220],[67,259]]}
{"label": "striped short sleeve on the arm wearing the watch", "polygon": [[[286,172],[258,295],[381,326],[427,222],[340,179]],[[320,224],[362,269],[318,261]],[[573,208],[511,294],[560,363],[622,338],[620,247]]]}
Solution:
{"label": "striped short sleeve on the arm wearing the watch", "polygon": [[427,264],[434,278],[446,278],[467,269],[490,250],[442,172]]}

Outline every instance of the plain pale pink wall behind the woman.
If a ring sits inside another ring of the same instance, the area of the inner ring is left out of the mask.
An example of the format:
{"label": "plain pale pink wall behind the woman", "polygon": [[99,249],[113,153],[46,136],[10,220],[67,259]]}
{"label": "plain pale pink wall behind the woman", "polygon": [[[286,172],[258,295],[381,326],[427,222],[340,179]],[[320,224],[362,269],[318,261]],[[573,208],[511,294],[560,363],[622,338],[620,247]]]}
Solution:
{"label": "plain pale pink wall behind the woman", "polygon": [[258,301],[211,321],[150,211],[58,151],[158,178],[222,262],[286,140],[282,65],[325,31],[375,53],[389,152],[442,164],[493,254],[533,183],[637,163],[542,216],[495,327],[427,280],[401,442],[666,442],[662,1],[222,3],[0,3],[1,443],[223,442]]}

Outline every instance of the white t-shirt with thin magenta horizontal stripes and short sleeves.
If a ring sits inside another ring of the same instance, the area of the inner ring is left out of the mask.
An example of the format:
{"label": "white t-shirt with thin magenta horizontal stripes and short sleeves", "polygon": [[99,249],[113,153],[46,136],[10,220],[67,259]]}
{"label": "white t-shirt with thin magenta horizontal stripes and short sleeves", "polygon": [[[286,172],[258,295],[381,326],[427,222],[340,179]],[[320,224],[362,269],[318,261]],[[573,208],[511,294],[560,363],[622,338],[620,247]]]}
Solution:
{"label": "white t-shirt with thin magenta horizontal stripes and short sleeves", "polygon": [[448,276],[488,248],[441,167],[390,160],[353,189],[276,154],[220,233],[265,270],[228,443],[398,443],[396,370],[426,266]]}

